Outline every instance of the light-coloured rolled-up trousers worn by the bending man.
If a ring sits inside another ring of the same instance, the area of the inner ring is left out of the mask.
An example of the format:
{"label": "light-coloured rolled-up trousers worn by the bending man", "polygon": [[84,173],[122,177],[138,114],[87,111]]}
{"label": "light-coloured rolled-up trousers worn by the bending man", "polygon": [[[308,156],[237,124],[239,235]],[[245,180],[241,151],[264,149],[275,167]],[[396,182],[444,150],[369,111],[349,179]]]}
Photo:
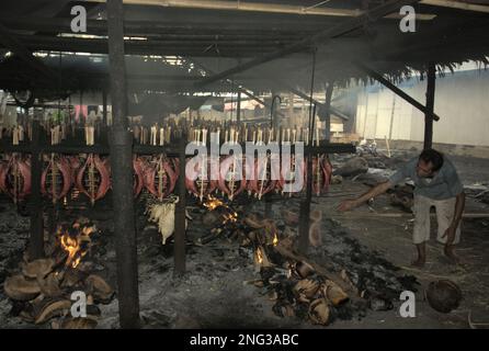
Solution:
{"label": "light-coloured rolled-up trousers worn by the bending man", "polygon": [[[456,197],[446,200],[432,200],[425,196],[414,195],[414,230],[412,233],[412,240],[414,244],[421,244],[430,240],[430,208],[435,207],[436,220],[439,230],[436,240],[446,244],[446,237],[442,238],[445,230],[450,227],[455,215]],[[455,239],[453,244],[460,241],[460,224],[455,231]]]}

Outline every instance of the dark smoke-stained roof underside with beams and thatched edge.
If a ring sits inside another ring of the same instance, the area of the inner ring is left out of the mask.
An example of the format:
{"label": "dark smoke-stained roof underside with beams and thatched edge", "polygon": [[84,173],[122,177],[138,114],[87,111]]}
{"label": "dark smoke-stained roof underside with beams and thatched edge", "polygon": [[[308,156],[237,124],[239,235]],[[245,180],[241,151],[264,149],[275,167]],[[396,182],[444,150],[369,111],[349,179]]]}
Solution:
{"label": "dark smoke-stained roof underside with beams and thatched edge", "polygon": [[[128,90],[307,92],[314,59],[315,90],[368,79],[357,63],[391,81],[429,63],[486,64],[487,2],[124,0]],[[417,13],[413,33],[399,30],[405,3]],[[83,34],[70,29],[77,4],[88,12]],[[0,89],[107,89],[106,26],[104,1],[3,1]]]}

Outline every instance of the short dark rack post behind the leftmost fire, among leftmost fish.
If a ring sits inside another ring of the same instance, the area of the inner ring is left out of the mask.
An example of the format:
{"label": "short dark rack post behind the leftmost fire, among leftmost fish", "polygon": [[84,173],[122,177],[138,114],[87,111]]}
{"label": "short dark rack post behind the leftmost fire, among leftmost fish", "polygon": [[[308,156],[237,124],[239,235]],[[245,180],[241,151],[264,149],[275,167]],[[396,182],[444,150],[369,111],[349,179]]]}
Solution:
{"label": "short dark rack post behind the leftmost fire, among leftmost fish", "polygon": [[42,161],[39,152],[41,126],[37,120],[32,124],[32,159],[31,159],[31,241],[30,259],[44,257],[43,199],[41,196]]}

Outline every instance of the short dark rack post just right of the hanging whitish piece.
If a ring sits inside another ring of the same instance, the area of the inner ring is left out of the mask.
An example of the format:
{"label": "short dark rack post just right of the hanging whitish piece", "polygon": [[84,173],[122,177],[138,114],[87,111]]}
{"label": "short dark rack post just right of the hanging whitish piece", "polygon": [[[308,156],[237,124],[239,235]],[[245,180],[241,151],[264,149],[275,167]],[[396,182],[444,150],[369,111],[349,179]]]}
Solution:
{"label": "short dark rack post just right of the hanging whitish piece", "polygon": [[177,190],[179,193],[179,202],[175,206],[175,233],[174,233],[174,274],[181,275],[185,273],[185,206],[186,206],[186,189],[185,189],[185,146],[186,135],[183,134],[180,139],[180,176],[177,181]]}

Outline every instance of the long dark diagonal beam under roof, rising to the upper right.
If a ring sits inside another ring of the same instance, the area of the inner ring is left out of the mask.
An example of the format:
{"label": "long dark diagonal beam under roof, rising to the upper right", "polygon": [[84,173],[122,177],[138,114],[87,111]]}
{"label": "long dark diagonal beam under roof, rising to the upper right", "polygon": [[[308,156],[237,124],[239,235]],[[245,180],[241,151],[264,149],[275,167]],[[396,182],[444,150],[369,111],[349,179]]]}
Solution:
{"label": "long dark diagonal beam under roof, rising to the upper right", "polygon": [[270,54],[264,54],[260,57],[255,57],[255,58],[249,60],[248,63],[235,66],[235,67],[227,69],[225,71],[221,71],[217,75],[205,78],[201,82],[197,82],[196,86],[202,88],[203,86],[206,86],[214,81],[221,80],[223,78],[242,72],[244,70],[257,67],[264,63],[269,63],[276,58],[284,57],[284,56],[287,56],[287,55],[291,55],[291,54],[297,53],[297,52],[304,52],[305,49],[308,49],[310,46],[317,45],[319,43],[326,44],[329,41],[331,41],[333,37],[341,36],[345,33],[349,33],[349,32],[362,26],[365,22],[376,21],[386,14],[389,14],[396,10],[399,10],[402,5],[414,4],[419,1],[420,0],[390,0],[384,4],[380,4],[372,10],[369,10],[369,11],[364,12],[363,14],[361,14],[356,18],[346,20],[346,21],[341,22],[337,25],[333,25],[330,29],[320,31],[315,35],[305,37],[302,41],[299,41],[293,45],[289,45],[287,47],[284,47],[280,50],[276,50],[276,52],[273,52]]}

